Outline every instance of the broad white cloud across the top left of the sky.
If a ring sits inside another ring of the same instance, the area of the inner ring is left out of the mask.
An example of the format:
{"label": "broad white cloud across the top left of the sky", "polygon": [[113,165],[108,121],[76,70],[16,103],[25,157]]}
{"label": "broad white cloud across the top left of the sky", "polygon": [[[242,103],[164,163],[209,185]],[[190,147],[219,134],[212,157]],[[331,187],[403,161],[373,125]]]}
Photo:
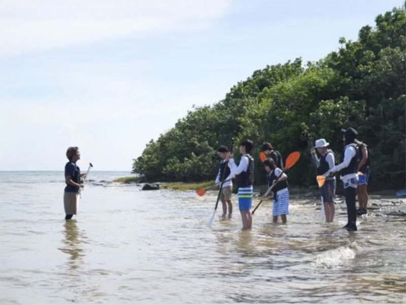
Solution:
{"label": "broad white cloud across the top left of the sky", "polygon": [[0,2],[0,56],[209,26],[230,0]]}

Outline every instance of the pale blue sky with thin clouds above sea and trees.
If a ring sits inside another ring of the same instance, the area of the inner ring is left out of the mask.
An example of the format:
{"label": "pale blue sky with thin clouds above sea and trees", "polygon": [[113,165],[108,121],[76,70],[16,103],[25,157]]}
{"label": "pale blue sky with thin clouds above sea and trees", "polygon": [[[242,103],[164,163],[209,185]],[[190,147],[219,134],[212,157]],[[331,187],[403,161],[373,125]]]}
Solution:
{"label": "pale blue sky with thin clouds above sea and trees", "polygon": [[315,61],[402,0],[0,0],[0,170],[130,171],[193,105]]}

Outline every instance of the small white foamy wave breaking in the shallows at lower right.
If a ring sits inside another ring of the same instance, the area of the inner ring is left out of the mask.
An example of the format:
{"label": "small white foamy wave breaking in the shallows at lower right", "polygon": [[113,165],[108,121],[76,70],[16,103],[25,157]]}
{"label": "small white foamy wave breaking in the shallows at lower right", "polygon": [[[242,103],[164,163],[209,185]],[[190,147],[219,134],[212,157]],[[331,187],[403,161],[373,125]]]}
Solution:
{"label": "small white foamy wave breaking in the shallows at lower right", "polygon": [[316,265],[324,268],[337,268],[354,259],[359,251],[360,247],[356,242],[349,246],[327,250],[317,255]]}

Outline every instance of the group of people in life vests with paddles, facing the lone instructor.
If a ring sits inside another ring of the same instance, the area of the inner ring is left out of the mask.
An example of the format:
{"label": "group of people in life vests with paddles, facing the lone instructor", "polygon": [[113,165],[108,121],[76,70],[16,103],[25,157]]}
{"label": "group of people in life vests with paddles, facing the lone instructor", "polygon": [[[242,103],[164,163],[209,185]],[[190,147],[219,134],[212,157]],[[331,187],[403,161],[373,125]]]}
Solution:
{"label": "group of people in life vests with paddles, facing the lone instructor", "polygon": [[[366,214],[368,202],[366,186],[369,179],[370,154],[368,146],[357,140],[358,132],[355,129],[343,129],[342,133],[344,150],[340,164],[335,165],[335,154],[329,149],[329,143],[325,139],[316,140],[315,146],[311,148],[311,153],[317,174],[326,177],[324,185],[320,188],[326,222],[332,222],[334,219],[335,173],[339,173],[344,184],[347,204],[348,222],[344,228],[349,231],[357,231],[357,215]],[[252,226],[254,159],[250,156],[250,152],[253,146],[253,142],[248,139],[240,143],[242,157],[238,165],[227,147],[220,146],[217,149],[217,154],[222,159],[216,177],[216,184],[221,186],[222,218],[232,218],[232,179],[235,178],[243,229],[249,229]],[[261,150],[267,156],[267,159],[263,161],[263,166],[266,171],[268,188],[272,188],[273,192],[273,222],[278,222],[280,216],[282,222],[286,223],[286,216],[289,214],[289,190],[288,176],[284,173],[282,156],[270,143],[264,143]],[[357,194],[358,209],[355,205]]]}

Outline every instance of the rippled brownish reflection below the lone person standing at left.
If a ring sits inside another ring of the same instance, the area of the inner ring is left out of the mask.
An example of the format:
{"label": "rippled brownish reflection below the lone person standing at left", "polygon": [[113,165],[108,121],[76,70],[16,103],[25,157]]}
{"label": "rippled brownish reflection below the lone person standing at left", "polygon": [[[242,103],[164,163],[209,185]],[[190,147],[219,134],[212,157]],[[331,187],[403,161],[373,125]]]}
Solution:
{"label": "rippled brownish reflection below the lone person standing at left", "polygon": [[65,236],[62,242],[64,247],[59,248],[59,250],[70,255],[69,262],[67,263],[69,269],[77,269],[83,261],[82,258],[85,256],[81,248],[84,236],[79,231],[76,220],[66,221],[63,227]]}

